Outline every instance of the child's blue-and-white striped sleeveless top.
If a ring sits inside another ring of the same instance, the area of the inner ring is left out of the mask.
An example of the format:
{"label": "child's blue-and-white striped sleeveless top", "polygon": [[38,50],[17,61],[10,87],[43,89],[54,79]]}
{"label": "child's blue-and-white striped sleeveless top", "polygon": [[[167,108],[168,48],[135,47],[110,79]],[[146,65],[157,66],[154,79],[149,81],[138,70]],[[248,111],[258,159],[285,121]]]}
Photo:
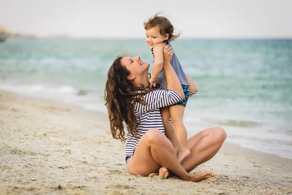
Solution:
{"label": "child's blue-and-white striped sleeveless top", "polygon": [[[166,44],[171,47],[169,40],[164,40],[164,42],[166,42]],[[173,51],[173,49],[172,49],[172,51]],[[153,52],[153,48],[152,48],[152,52]],[[173,51],[172,59],[170,60],[170,64],[171,64],[173,70],[175,71],[175,73],[177,74],[178,78],[180,79],[181,84],[189,86],[190,84],[188,83],[187,78],[184,75],[181,63],[180,63],[180,61],[179,61],[179,59],[176,56],[174,51]],[[159,79],[159,84],[162,87],[162,89],[167,89],[167,81],[166,81],[166,76],[164,74],[163,69],[161,69],[160,73],[158,74],[158,79]]]}

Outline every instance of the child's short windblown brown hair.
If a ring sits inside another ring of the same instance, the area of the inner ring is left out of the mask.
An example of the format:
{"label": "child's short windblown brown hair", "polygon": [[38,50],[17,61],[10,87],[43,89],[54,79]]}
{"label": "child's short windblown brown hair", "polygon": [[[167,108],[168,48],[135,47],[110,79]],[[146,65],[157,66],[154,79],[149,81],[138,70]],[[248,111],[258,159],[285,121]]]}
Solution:
{"label": "child's short windblown brown hair", "polygon": [[178,32],[177,34],[174,34],[173,25],[167,18],[158,16],[160,13],[161,12],[158,12],[157,14],[152,16],[149,20],[146,20],[144,22],[144,28],[145,30],[149,30],[151,28],[158,26],[159,32],[161,35],[165,36],[166,34],[168,34],[168,40],[174,41],[181,35],[181,33]]}

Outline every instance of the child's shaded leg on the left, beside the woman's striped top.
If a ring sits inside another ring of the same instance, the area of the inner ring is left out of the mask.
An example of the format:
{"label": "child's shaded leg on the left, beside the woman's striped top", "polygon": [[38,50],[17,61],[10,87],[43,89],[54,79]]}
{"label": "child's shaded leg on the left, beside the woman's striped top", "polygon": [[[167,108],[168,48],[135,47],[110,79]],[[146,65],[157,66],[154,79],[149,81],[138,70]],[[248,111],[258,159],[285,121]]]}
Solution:
{"label": "child's shaded leg on the left, beside the woman's striped top", "polygon": [[166,137],[171,141],[174,150],[176,151],[176,154],[179,152],[179,145],[178,145],[178,140],[175,135],[174,127],[171,124],[170,120],[170,111],[168,107],[163,107],[160,109],[161,117],[162,117],[162,122],[164,125],[164,131]]}

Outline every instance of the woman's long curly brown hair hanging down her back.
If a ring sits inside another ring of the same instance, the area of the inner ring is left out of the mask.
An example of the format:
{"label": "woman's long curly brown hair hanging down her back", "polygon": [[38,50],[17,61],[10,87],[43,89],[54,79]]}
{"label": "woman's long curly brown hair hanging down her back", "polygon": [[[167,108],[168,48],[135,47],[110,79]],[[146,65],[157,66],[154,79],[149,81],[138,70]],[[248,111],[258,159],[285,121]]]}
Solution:
{"label": "woman's long curly brown hair hanging down her back", "polygon": [[[130,72],[121,64],[123,56],[118,56],[110,66],[105,89],[105,105],[108,107],[111,135],[121,142],[126,141],[125,125],[128,132],[138,138],[137,125],[140,121],[134,116],[133,103],[146,104],[143,96],[151,91],[148,86],[134,84],[128,80]],[[146,90],[149,89],[149,90]]]}

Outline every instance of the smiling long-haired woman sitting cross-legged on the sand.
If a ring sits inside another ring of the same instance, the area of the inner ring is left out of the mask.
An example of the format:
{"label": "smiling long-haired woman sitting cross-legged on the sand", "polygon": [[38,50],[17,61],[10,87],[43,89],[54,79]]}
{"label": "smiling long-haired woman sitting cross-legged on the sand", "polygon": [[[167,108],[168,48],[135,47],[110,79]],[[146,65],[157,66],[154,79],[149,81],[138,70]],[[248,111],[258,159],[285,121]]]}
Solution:
{"label": "smiling long-haired woman sitting cross-legged on the sand", "polygon": [[[105,89],[112,137],[126,140],[126,163],[132,175],[159,173],[165,178],[168,170],[185,181],[200,181],[214,176],[212,171],[190,174],[198,165],[211,159],[226,138],[220,127],[205,129],[187,141],[190,156],[181,164],[177,159],[174,132],[164,134],[160,108],[183,100],[184,93],[172,66],[171,47],[164,47],[163,69],[167,90],[149,88],[149,64],[140,57],[118,57],[110,67]],[[167,132],[167,131],[166,131]]]}

